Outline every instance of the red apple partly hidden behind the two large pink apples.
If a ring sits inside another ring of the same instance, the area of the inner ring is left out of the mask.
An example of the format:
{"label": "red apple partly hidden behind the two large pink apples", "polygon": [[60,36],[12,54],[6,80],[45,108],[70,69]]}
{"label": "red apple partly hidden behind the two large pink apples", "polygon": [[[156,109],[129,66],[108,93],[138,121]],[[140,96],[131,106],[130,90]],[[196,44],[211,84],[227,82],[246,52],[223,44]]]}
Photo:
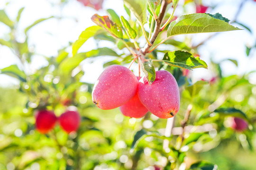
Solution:
{"label": "red apple partly hidden behind the two large pink apples", "polygon": [[[139,80],[139,77],[137,77],[137,80]],[[124,116],[130,118],[142,118],[148,112],[146,107],[140,102],[137,92],[131,100],[120,106],[119,109]]]}

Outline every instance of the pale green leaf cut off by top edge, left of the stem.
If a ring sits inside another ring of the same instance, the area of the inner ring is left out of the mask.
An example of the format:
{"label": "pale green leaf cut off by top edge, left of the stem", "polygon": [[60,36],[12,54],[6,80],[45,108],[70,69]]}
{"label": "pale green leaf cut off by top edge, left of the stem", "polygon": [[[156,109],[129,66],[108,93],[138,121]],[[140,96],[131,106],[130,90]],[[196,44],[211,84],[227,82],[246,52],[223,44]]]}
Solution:
{"label": "pale green leaf cut off by top edge, left of the stem", "polygon": [[124,0],[124,4],[141,25],[146,23],[147,0]]}

